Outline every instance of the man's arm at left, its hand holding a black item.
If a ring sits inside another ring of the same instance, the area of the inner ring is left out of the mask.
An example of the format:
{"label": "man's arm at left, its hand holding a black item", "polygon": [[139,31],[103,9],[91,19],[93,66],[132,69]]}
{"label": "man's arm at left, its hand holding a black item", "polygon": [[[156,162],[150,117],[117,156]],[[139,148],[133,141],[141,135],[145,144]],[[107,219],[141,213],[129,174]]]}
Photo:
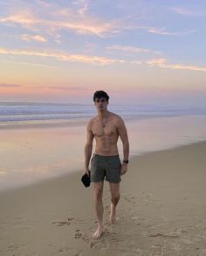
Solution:
{"label": "man's arm at left, its hand holding a black item", "polygon": [[93,152],[93,132],[92,121],[89,122],[86,128],[86,146],[85,146],[85,171],[84,174],[89,174],[89,161]]}

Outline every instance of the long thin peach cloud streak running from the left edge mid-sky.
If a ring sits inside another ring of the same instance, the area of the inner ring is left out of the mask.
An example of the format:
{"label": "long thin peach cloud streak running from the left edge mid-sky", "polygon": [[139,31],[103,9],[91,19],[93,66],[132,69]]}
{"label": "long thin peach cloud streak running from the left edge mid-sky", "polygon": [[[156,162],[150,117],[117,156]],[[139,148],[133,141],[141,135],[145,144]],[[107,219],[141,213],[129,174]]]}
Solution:
{"label": "long thin peach cloud streak running from the left edge mid-sky", "polygon": [[80,54],[68,54],[64,52],[38,52],[38,51],[31,51],[31,50],[18,50],[18,49],[5,49],[0,48],[0,54],[10,54],[10,55],[26,55],[26,56],[38,56],[38,57],[48,57],[48,58],[55,58],[61,61],[70,61],[70,62],[86,62],[91,64],[98,64],[98,65],[108,65],[113,63],[125,63],[125,60],[115,60],[109,59],[106,57],[100,56],[89,56],[89,55],[80,55]]}

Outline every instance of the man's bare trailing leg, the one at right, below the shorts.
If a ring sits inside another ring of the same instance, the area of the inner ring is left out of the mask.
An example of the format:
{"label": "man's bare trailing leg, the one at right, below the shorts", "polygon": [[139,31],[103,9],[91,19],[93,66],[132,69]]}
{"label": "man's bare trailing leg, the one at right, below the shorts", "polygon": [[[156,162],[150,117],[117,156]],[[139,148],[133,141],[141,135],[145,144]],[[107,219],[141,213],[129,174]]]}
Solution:
{"label": "man's bare trailing leg, the one at right, below the shorts", "polygon": [[120,201],[120,183],[112,183],[109,182],[111,196],[112,196],[112,203],[111,203],[111,211],[110,211],[110,224],[113,224],[116,221],[116,206],[117,203]]}

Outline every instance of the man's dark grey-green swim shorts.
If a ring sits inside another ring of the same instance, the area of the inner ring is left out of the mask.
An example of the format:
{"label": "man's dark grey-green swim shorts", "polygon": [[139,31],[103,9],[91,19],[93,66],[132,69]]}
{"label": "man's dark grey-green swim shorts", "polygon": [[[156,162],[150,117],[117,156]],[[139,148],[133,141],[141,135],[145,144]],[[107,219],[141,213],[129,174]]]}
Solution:
{"label": "man's dark grey-green swim shorts", "polygon": [[117,155],[93,154],[91,160],[91,181],[106,181],[119,183],[120,180],[120,157]]}

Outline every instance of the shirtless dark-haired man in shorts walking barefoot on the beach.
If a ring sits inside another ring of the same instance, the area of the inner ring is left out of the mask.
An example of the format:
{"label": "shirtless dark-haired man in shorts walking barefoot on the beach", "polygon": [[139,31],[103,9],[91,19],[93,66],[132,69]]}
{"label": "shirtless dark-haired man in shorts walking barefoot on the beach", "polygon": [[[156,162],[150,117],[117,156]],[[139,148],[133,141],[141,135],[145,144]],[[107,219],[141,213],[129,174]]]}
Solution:
{"label": "shirtless dark-haired man in shorts walking barefoot on the beach", "polygon": [[[93,117],[87,125],[87,141],[85,146],[85,170],[89,174],[89,162],[93,152],[93,138],[96,140],[95,151],[91,160],[91,181],[93,181],[94,204],[98,220],[97,231],[93,238],[100,238],[103,232],[103,185],[109,182],[111,191],[110,223],[116,220],[116,206],[120,200],[120,175],[126,174],[129,143],[124,121],[118,115],[107,110],[109,96],[100,90],[93,95],[93,101],[98,115]],[[123,163],[120,163],[117,141],[123,144]]]}

